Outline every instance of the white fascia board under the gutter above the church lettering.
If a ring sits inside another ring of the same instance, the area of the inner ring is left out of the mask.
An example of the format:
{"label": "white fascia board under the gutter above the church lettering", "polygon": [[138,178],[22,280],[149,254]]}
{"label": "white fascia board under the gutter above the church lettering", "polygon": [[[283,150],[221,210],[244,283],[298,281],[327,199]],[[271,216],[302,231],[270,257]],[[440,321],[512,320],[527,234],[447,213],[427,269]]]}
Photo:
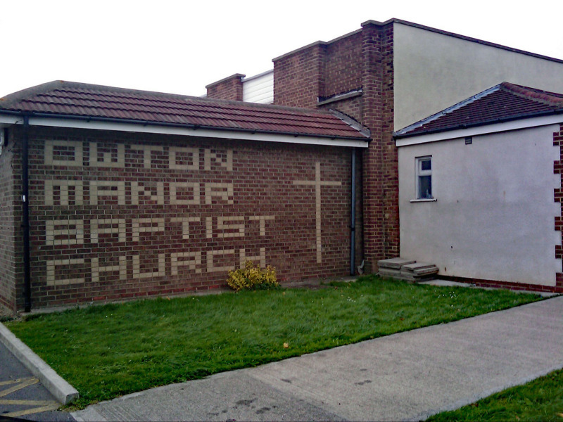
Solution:
{"label": "white fascia board under the gutter above the church lettering", "polygon": [[[20,119],[21,120],[21,119]],[[281,143],[303,143],[308,145],[348,146],[367,148],[365,141],[355,139],[330,139],[317,136],[293,136],[287,134],[263,134],[260,132],[238,132],[215,129],[192,129],[189,127],[158,126],[156,124],[103,122],[100,120],[60,119],[50,117],[30,117],[32,126],[65,127],[73,129],[115,130],[119,132],[138,132],[145,134],[167,134],[198,136],[203,138],[237,139],[241,141],[265,141]]]}

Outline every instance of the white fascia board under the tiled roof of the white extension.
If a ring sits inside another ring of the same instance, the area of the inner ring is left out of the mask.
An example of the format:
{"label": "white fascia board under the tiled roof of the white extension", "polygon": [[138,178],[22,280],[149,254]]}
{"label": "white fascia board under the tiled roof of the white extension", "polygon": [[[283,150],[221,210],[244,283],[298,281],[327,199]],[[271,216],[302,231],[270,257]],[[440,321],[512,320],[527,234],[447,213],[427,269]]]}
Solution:
{"label": "white fascia board under the tiled roof of the white extension", "polygon": [[397,139],[396,146],[417,145],[419,143],[429,143],[445,141],[448,139],[465,138],[467,136],[477,136],[493,134],[497,132],[507,132],[510,130],[528,129],[530,127],[547,126],[548,124],[563,123],[563,115],[549,115],[541,117],[530,117],[528,119],[512,120],[510,122],[486,124],[483,126],[469,127],[467,129],[455,129],[434,134],[422,134],[408,138]]}

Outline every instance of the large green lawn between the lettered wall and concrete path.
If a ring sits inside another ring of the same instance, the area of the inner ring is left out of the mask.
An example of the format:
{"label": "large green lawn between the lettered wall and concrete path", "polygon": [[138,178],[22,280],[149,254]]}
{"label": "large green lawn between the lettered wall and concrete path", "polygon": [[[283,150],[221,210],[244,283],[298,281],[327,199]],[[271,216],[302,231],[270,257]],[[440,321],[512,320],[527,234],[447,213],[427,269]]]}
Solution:
{"label": "large green lawn between the lettered wall and concrete path", "polygon": [[40,314],[6,326],[80,392],[77,407],[540,300],[365,276]]}

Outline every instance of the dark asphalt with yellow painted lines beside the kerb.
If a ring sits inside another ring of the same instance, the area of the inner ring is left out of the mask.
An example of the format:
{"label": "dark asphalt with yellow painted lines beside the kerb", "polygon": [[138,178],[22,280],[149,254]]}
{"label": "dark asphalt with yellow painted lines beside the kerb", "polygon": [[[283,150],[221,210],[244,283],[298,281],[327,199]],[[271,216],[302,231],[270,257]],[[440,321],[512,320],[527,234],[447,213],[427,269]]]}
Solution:
{"label": "dark asphalt with yellow painted lines beside the kerb", "polygon": [[75,421],[14,355],[0,343],[0,422]]}

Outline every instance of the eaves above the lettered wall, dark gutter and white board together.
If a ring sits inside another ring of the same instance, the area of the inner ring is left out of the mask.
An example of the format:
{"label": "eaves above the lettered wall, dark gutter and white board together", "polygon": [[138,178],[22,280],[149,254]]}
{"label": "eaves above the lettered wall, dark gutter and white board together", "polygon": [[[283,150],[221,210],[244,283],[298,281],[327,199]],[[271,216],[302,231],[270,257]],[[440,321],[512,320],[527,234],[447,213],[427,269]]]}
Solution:
{"label": "eaves above the lettered wall, dark gutter and white board together", "polygon": [[63,127],[72,129],[113,130],[150,134],[196,136],[203,138],[236,139],[243,141],[265,141],[279,143],[301,143],[322,146],[346,146],[367,148],[369,135],[358,132],[358,136],[332,136],[324,134],[301,134],[277,132],[263,129],[236,129],[211,127],[198,124],[152,122],[148,120],[117,119],[98,116],[61,115],[37,112],[0,110],[0,125],[23,124],[27,115],[30,126]]}

